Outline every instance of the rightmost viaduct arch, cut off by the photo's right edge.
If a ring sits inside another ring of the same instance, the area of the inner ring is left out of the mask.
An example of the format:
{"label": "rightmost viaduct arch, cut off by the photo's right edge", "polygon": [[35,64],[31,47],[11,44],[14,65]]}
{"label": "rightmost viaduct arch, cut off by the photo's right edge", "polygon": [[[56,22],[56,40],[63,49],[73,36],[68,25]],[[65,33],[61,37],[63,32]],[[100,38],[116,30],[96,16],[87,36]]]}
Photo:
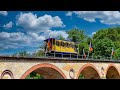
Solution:
{"label": "rightmost viaduct arch, cut off by the photo's right edge", "polygon": [[107,79],[120,79],[119,70],[114,64],[110,64],[107,67],[105,75]]}

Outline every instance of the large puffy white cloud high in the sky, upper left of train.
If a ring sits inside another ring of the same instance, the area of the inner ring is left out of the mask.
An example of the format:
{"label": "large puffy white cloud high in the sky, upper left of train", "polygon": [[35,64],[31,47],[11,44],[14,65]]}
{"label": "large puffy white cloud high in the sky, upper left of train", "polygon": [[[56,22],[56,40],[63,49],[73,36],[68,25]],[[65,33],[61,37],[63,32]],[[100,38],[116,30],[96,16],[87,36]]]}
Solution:
{"label": "large puffy white cloud high in the sky, upper left of train", "polygon": [[16,24],[28,32],[43,32],[52,27],[65,26],[58,16],[52,17],[51,15],[45,14],[44,16],[37,17],[37,15],[33,13],[21,13],[17,16]]}

